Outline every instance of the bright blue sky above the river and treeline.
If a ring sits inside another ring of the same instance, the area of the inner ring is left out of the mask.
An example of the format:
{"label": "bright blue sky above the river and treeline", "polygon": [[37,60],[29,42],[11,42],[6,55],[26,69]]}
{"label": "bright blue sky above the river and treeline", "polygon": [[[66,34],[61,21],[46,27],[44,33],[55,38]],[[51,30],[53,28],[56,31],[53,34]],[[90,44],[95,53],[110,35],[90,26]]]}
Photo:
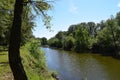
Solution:
{"label": "bright blue sky above the river and treeline", "polygon": [[51,38],[58,31],[67,31],[72,24],[81,22],[100,22],[116,15],[120,11],[120,0],[56,0],[54,8],[48,12],[52,16],[53,30],[50,32],[43,26],[40,19],[36,19],[33,34],[36,37]]}

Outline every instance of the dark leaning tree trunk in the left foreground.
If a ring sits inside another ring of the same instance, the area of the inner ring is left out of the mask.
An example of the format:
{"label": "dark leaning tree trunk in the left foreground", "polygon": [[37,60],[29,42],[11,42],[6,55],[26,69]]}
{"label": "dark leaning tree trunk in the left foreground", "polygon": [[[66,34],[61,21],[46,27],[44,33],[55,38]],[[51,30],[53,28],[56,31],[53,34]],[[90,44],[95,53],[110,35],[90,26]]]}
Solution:
{"label": "dark leaning tree trunk in the left foreground", "polygon": [[16,0],[9,43],[9,64],[15,80],[27,80],[20,58],[23,0]]}

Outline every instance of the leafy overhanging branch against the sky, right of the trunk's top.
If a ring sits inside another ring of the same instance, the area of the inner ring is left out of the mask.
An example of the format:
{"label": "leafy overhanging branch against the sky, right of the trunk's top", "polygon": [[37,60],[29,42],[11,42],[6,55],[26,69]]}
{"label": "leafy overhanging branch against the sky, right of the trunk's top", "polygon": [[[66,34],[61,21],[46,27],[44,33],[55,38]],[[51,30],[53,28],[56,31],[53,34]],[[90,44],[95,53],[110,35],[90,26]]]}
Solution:
{"label": "leafy overhanging branch against the sky, right of the trunk's top", "polygon": [[51,17],[47,14],[47,11],[52,9],[52,2],[53,1],[47,1],[47,0],[27,0],[27,2],[25,3],[29,3],[27,4],[29,7],[32,8],[33,14],[35,15],[40,15],[42,16],[42,21],[44,22],[44,25],[46,26],[46,28],[50,28],[51,27]]}

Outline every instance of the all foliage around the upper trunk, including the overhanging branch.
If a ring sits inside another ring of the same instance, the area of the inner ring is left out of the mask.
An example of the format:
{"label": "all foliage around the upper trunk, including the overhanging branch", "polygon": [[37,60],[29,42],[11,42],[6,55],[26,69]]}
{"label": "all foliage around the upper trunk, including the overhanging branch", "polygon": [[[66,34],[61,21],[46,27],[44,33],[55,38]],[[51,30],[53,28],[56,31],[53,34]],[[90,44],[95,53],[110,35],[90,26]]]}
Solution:
{"label": "all foliage around the upper trunk, including the overhanging branch", "polygon": [[[37,0],[32,3],[28,0],[24,0],[25,4],[23,9],[22,17],[22,34],[21,34],[21,45],[24,45],[31,37],[33,37],[32,29],[35,27],[34,19],[36,14],[42,16],[44,25],[50,27],[50,16],[47,15],[47,10],[51,9],[52,2],[46,0]],[[27,2],[27,3],[26,3]],[[13,21],[15,0],[1,0],[0,1],[0,45],[8,45],[10,29]],[[36,14],[33,13],[33,10]]]}

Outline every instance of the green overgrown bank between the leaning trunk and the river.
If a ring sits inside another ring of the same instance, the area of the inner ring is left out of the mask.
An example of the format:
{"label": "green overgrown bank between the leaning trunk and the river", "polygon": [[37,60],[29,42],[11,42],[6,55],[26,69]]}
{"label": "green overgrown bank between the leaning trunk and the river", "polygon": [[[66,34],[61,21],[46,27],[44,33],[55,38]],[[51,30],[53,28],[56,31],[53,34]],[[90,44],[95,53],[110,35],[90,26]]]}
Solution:
{"label": "green overgrown bank between the leaning trunk and the river", "polygon": [[44,52],[38,44],[39,41],[32,40],[21,48],[22,62],[28,80],[53,80],[47,70]]}

